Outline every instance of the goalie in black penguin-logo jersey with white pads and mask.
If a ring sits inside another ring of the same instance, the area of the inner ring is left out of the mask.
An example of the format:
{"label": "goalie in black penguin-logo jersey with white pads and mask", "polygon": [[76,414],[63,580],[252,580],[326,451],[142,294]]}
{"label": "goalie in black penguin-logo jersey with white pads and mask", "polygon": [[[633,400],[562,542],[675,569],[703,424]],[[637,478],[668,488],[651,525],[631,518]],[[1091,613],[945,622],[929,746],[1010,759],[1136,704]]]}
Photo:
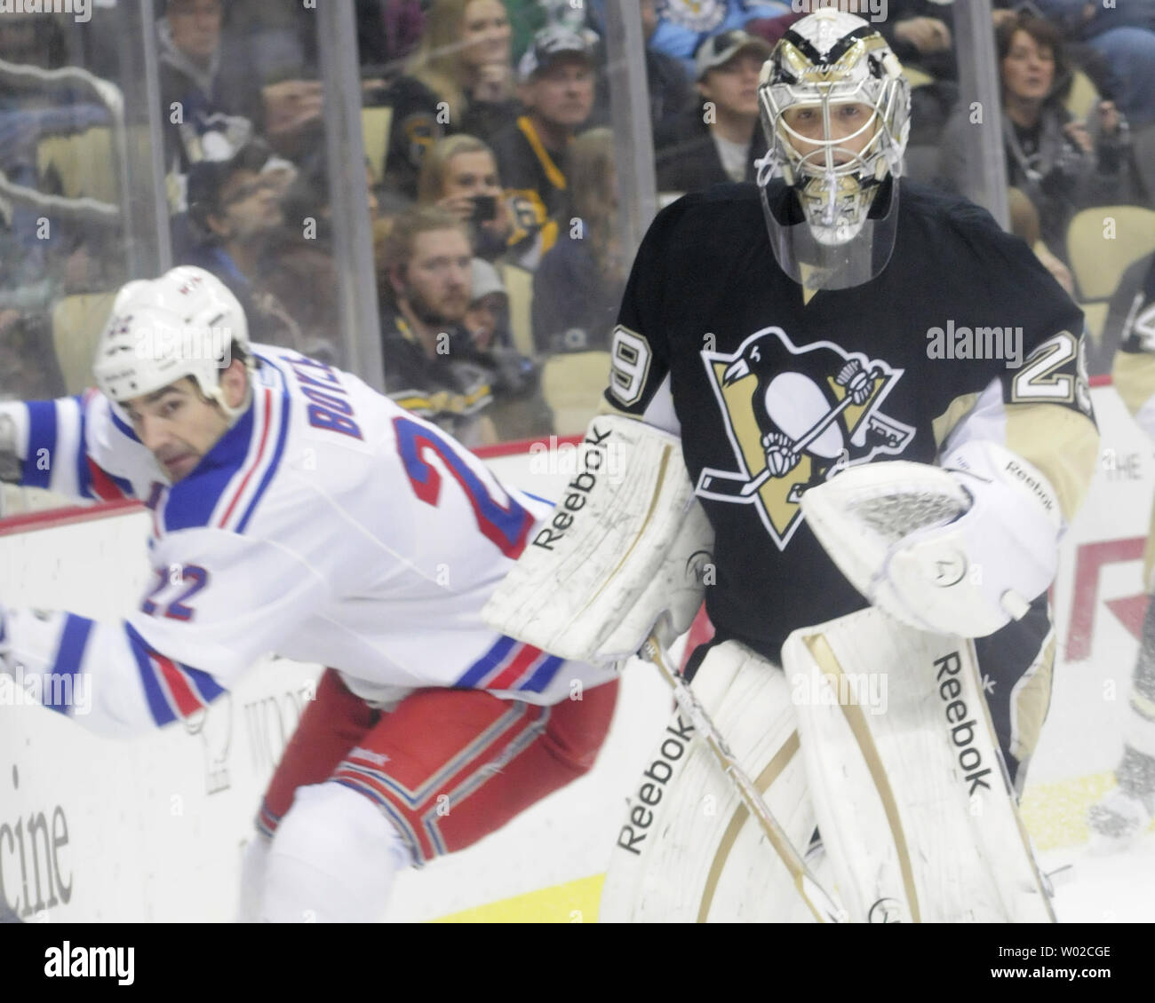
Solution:
{"label": "goalie in black penguin-logo jersey with white pads and mask", "polygon": [[[1097,448],[1082,315],[984,210],[902,178],[908,85],[865,21],[798,21],[759,100],[757,184],[651,224],[581,489],[486,616],[664,664],[705,593],[603,920],[1050,920],[1016,792]],[[934,349],[994,325],[1015,359]]]}

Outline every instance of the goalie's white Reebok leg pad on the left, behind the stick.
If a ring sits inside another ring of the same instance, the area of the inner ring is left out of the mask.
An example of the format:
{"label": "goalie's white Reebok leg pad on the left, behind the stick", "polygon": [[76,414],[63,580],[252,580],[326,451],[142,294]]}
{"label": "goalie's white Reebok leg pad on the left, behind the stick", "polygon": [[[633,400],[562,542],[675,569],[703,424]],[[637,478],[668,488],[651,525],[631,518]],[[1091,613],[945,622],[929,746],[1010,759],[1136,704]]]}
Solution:
{"label": "goalie's white Reebok leg pad on the left, behind the stick", "polygon": [[[800,853],[814,813],[782,669],[737,642],[713,648],[693,690]],[[717,759],[676,712],[629,791],[601,922],[813,922]]]}

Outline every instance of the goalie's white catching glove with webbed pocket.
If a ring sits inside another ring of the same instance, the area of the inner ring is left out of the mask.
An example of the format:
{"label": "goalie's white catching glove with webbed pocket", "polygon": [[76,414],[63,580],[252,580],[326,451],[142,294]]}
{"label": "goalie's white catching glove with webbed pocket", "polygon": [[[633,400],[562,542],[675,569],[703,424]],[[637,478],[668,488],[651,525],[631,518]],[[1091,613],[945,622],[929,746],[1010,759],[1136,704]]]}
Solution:
{"label": "goalie's white catching glove with webbed pocket", "polygon": [[1058,497],[1030,463],[971,441],[941,466],[856,466],[802,499],[806,522],[872,605],[919,630],[985,637],[1058,568]]}

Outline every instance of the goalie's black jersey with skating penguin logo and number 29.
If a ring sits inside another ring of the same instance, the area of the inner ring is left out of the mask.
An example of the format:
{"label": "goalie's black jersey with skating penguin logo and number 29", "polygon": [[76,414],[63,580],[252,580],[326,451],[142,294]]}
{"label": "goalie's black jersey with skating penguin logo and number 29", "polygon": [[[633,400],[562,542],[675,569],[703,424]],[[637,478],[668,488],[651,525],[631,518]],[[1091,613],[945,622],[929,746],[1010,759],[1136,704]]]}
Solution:
{"label": "goalie's black jersey with skating penguin logo and number 29", "polygon": [[[626,287],[606,401],[672,427],[672,396],[715,530],[708,613],[720,638],[774,660],[791,630],[866,605],[799,506],[843,467],[994,440],[1050,478],[1066,519],[1094,470],[1079,308],[984,210],[900,194],[893,256],[864,285],[792,282],[757,187],[724,185],[658,214]],[[1030,657],[1045,597],[1036,613]]]}

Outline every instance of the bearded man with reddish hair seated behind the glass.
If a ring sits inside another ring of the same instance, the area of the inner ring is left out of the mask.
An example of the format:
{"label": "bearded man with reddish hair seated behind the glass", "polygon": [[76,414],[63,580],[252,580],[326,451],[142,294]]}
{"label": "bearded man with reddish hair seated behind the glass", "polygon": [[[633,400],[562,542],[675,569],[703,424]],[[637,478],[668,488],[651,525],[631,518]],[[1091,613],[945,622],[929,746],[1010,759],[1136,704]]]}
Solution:
{"label": "bearded man with reddish hair seated behind the glass", "polygon": [[381,349],[386,392],[465,446],[497,441],[490,370],[464,327],[472,252],[445,209],[400,216],[380,241]]}

